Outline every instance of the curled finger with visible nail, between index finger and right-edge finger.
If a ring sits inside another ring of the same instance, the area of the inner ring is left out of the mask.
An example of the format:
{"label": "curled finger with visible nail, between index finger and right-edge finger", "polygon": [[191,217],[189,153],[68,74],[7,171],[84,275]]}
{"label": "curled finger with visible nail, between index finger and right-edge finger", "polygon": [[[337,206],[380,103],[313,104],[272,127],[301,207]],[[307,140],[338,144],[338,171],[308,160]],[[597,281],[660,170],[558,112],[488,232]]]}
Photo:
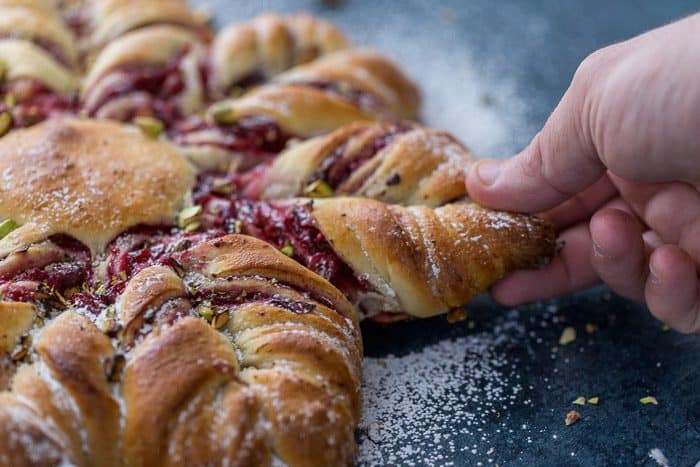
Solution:
{"label": "curled finger with visible nail, between index finger and right-edge finger", "polygon": [[590,223],[591,265],[618,294],[644,299],[649,274],[643,228],[631,214],[614,208],[597,212]]}

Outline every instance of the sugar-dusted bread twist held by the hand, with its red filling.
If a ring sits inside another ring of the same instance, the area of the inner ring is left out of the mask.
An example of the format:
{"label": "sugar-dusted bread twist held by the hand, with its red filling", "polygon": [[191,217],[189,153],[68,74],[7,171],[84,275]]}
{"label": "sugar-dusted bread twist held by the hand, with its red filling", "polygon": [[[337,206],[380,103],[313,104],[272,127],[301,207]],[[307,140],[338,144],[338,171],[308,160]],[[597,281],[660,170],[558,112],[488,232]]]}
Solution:
{"label": "sugar-dusted bread twist held by the hand, with its red filling", "polygon": [[542,265],[555,249],[546,222],[473,203],[251,201],[206,191],[195,201],[203,226],[276,245],[343,291],[363,317],[445,313],[510,271]]}

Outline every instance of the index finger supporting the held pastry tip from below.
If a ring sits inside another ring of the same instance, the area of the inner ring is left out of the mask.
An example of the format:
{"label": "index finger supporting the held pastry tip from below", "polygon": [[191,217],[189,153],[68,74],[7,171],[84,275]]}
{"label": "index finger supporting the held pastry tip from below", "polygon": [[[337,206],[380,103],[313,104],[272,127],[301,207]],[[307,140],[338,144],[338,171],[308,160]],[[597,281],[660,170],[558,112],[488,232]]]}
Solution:
{"label": "index finger supporting the held pastry tip from below", "polygon": [[517,271],[491,289],[493,298],[507,306],[556,297],[598,282],[591,267],[588,223],[578,224],[560,237],[564,248],[550,264],[536,271]]}

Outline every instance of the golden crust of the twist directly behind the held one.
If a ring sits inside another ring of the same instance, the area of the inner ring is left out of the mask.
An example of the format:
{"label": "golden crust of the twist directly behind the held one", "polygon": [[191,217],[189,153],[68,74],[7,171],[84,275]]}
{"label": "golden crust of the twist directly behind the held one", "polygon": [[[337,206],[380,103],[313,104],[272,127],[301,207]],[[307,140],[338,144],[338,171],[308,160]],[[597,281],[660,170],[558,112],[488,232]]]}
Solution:
{"label": "golden crust of the twist directly behind the held one", "polygon": [[[249,194],[281,199],[303,194],[334,151],[348,159],[390,138],[369,161],[335,188],[335,194],[390,204],[440,206],[466,196],[464,171],[473,156],[443,131],[403,123],[354,123],[287,149],[275,159]],[[399,127],[400,128],[400,127]]]}

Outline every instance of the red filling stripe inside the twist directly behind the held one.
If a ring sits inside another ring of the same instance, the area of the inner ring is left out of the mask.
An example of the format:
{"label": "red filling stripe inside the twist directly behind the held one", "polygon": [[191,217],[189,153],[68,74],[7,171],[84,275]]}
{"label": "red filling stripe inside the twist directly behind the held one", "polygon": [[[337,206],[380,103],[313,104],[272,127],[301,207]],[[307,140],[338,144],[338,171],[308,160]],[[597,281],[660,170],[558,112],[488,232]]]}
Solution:
{"label": "red filling stripe inside the twist directly behind the held one", "polygon": [[373,159],[382,149],[387,147],[396,137],[410,131],[410,127],[401,124],[391,125],[383,134],[368,141],[354,154],[346,154],[347,141],[335,148],[321,162],[319,170],[311,176],[311,181],[324,180],[331,188],[338,188],[350,176],[368,161]]}

